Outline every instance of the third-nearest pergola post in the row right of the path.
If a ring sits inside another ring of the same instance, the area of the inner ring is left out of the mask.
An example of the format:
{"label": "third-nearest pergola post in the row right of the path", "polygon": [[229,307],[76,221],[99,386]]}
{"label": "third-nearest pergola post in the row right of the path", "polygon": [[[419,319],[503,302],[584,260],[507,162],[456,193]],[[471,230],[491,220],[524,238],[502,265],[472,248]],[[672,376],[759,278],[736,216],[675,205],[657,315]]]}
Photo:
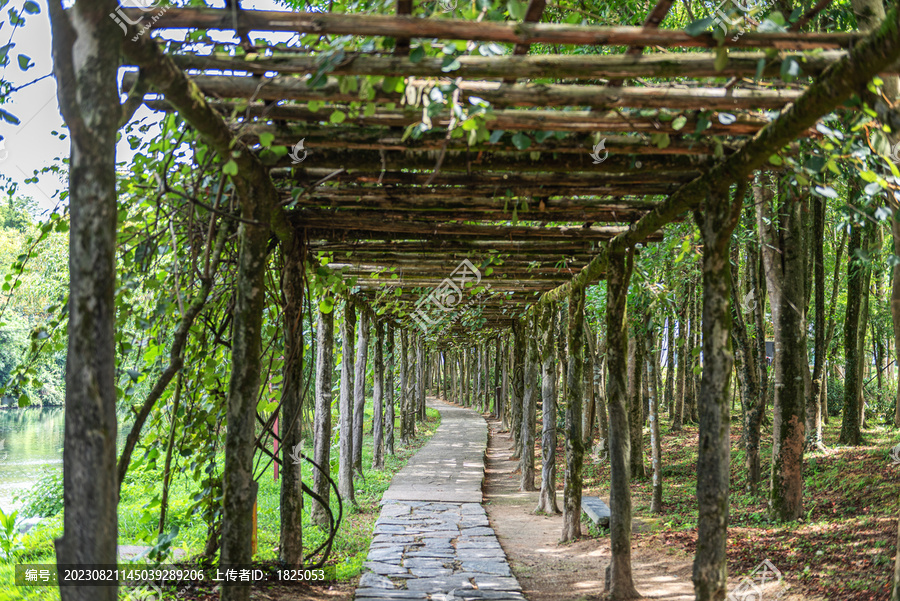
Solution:
{"label": "third-nearest pergola post in the row right of the path", "polygon": [[566,477],[563,489],[563,531],[560,542],[581,536],[581,404],[584,363],[584,288],[573,286],[569,294],[569,366],[566,383]]}

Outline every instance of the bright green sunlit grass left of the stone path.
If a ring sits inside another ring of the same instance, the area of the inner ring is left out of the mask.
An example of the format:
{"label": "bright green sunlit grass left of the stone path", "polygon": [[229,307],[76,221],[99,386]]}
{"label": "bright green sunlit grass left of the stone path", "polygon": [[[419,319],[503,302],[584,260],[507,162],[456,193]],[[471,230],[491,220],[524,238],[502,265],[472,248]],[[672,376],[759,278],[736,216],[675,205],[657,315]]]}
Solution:
{"label": "bright green sunlit grass left of the stone path", "polygon": [[[337,424],[336,416],[333,423]],[[369,544],[372,540],[375,521],[379,514],[379,501],[390,485],[391,478],[434,434],[440,424],[440,414],[426,410],[426,421],[417,424],[417,437],[409,446],[401,446],[399,436],[395,439],[394,455],[385,456],[384,470],[373,470],[372,465],[372,407],[367,405],[366,431],[363,440],[363,465],[365,478],[356,481],[356,505],[344,504],[344,516],[332,553],[327,564],[334,566],[337,580],[349,581],[358,576],[362,570]],[[395,431],[399,433],[399,419]],[[303,449],[306,455],[312,455],[311,440],[305,441]],[[337,473],[337,447],[332,448],[332,474]],[[224,457],[219,458],[218,465],[224,464]],[[260,466],[258,469],[262,469]],[[310,470],[304,467],[303,480],[311,485]],[[136,469],[129,473],[122,487],[119,502],[119,544],[147,545],[148,540],[155,539],[157,520],[159,519],[158,502],[154,498],[162,488],[161,468],[156,470]],[[258,478],[257,495],[257,555],[256,560],[267,561],[278,557],[279,536],[279,496],[281,481],[275,481],[273,467],[270,465]],[[61,493],[61,491],[60,491]],[[206,540],[206,524],[199,516],[190,515],[189,508],[194,503],[197,493],[193,481],[187,477],[176,475],[172,482],[169,500],[168,524],[178,526],[178,535],[173,547],[183,549],[188,556],[197,556],[203,550]],[[332,510],[337,514],[337,502],[332,495]],[[302,524],[304,548],[312,549],[324,540],[326,533],[309,521],[311,503],[305,500],[304,519]],[[59,591],[53,587],[16,587],[13,584],[16,563],[48,563],[56,562],[53,541],[62,535],[62,513],[48,518],[26,536],[22,543],[24,550],[16,555],[14,562],[0,563],[0,601],[58,601]],[[172,560],[166,560],[171,563]]]}

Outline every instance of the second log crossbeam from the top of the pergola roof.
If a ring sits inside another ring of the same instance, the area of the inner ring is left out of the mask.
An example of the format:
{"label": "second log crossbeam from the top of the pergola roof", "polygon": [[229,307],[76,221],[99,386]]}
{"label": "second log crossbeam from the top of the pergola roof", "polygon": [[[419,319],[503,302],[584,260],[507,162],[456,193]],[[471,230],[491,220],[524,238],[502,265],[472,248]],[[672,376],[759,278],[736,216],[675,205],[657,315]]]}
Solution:
{"label": "second log crossbeam from the top of the pergola roof", "polygon": [[[764,52],[731,52],[728,60],[717,65],[716,54],[698,52],[688,54],[650,54],[641,56],[579,54],[579,55],[531,55],[531,56],[459,56],[460,67],[452,72],[444,71],[442,58],[426,57],[413,62],[406,57],[347,55],[337,65],[329,66],[334,75],[383,75],[402,77],[466,79],[503,79],[514,75],[519,79],[622,79],[635,77],[774,77],[781,78],[782,63],[793,60],[790,53],[770,57]],[[824,50],[812,56],[797,57],[800,73],[805,77],[817,77],[829,66],[847,56],[844,50]],[[260,56],[243,60],[228,55],[174,55],[176,64],[183,69],[236,70],[264,74],[277,72],[283,75],[316,73],[322,68],[322,59],[316,56],[284,54]],[[764,67],[760,73],[759,64]],[[884,73],[897,73],[897,67],[885,67]]]}

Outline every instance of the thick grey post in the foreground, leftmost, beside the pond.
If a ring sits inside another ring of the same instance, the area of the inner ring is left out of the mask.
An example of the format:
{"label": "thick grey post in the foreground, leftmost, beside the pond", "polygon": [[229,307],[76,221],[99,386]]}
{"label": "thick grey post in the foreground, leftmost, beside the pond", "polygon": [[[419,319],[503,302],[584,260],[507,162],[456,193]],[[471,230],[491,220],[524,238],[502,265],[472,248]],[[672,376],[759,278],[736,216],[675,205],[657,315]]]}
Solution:
{"label": "thick grey post in the foreground, leftmost, beside the pond", "polygon": [[[116,73],[122,38],[107,18],[107,4],[81,0],[65,13],[59,2],[49,4],[57,97],[71,136],[65,511],[57,562],[108,565],[116,563],[119,502],[115,289],[121,110]],[[246,313],[242,317],[246,326]],[[114,601],[118,588],[62,587],[60,594],[63,601]]]}

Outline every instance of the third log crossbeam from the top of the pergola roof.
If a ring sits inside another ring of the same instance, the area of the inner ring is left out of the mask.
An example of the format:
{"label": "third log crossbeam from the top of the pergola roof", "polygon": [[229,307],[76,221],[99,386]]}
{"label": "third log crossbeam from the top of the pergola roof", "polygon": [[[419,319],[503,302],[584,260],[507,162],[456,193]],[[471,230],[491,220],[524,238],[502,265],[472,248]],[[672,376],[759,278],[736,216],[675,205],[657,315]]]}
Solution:
{"label": "third log crossbeam from the top of the pergola roof", "polygon": [[[131,89],[137,79],[136,71],[122,74],[122,88]],[[192,75],[205,94],[215,98],[253,98],[260,87],[258,77],[238,75]],[[263,87],[275,84],[275,80],[263,80]],[[300,78],[282,78],[277,89],[278,100],[319,102],[358,102],[358,92],[342,92],[340,83],[334,77],[323,86],[311,87]],[[442,82],[409,78],[407,89],[417,90],[417,95],[427,93]],[[562,107],[577,106],[609,110],[614,108],[670,108],[670,109],[710,109],[710,110],[755,110],[780,109],[800,95],[799,90],[790,89],[744,89],[689,86],[683,83],[673,87],[627,86],[622,88],[599,85],[574,84],[506,84],[497,81],[461,81],[458,85],[460,98],[464,101],[472,97],[486,100],[495,108],[520,107]],[[419,92],[421,90],[421,92]],[[385,92],[380,86],[375,90],[376,102],[399,103],[405,94]],[[274,94],[273,94],[274,95]]]}

